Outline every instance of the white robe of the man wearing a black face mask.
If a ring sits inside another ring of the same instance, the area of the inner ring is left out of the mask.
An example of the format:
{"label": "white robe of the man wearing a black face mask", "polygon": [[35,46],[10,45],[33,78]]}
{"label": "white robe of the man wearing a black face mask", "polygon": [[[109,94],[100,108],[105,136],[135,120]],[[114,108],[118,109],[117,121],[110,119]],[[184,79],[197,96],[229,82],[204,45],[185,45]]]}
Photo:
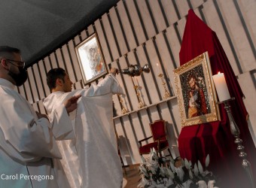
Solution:
{"label": "white robe of the man wearing a black face mask", "polygon": [[51,159],[61,159],[56,140],[75,136],[64,105],[52,112],[52,123],[38,120],[29,102],[2,78],[0,102],[0,187],[70,187],[61,166],[53,168]]}

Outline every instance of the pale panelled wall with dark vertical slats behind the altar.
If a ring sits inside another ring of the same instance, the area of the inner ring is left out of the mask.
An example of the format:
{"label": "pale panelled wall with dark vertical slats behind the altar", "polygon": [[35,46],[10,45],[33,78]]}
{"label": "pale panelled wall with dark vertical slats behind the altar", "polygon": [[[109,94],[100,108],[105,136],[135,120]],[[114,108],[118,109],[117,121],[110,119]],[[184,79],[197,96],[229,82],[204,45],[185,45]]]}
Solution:
{"label": "pale panelled wall with dark vertical slats behind the altar", "polygon": [[[251,120],[251,132],[256,132],[256,2],[254,0],[125,0],[96,20],[80,35],[32,65],[29,81],[18,91],[41,113],[43,99],[50,91],[46,73],[50,68],[65,68],[76,88],[83,86],[75,46],[97,32],[106,65],[126,68],[127,65],[148,63],[151,73],[138,77],[142,101],[138,108],[133,80],[119,74],[117,79],[126,96],[123,103],[129,114],[121,114],[117,96],[113,97],[115,128],[119,136],[124,162],[139,163],[138,141],[151,135],[148,123],[163,119],[168,122],[169,140],[177,153],[177,138],[181,132],[178,104],[175,97],[172,70],[179,66],[178,53],[186,23],[187,11],[192,8],[214,30],[224,47],[230,64],[245,95],[245,106]],[[163,99],[164,89],[160,72],[172,97]],[[100,78],[99,80],[101,80]],[[95,83],[97,80],[95,81]]]}

